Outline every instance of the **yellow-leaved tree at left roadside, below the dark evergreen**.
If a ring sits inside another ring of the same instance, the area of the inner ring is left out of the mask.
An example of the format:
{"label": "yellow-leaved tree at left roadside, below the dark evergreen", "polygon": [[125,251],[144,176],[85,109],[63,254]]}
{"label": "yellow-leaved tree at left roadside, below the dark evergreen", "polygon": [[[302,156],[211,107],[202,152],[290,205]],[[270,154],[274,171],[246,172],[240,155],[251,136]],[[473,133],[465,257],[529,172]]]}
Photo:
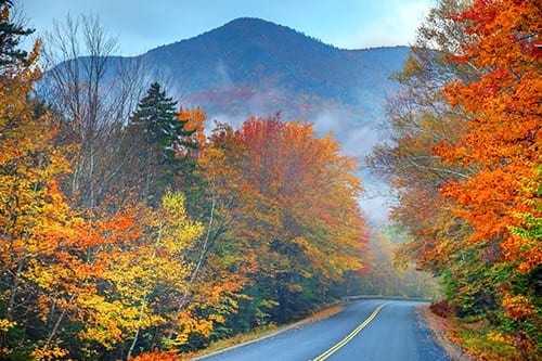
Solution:
{"label": "yellow-leaved tree at left roadside, below the dark evergreen", "polygon": [[[178,308],[195,267],[190,252],[204,231],[186,217],[183,203],[181,193],[167,192],[156,209],[119,214],[103,223],[109,236],[107,247],[94,256],[101,269],[95,280],[99,286],[75,300],[78,313],[85,314],[82,339],[116,349],[129,359],[138,349],[169,349],[185,343],[194,330],[208,333],[212,328],[210,320],[198,320],[186,312],[190,308]],[[178,323],[192,328],[178,327]]]}

